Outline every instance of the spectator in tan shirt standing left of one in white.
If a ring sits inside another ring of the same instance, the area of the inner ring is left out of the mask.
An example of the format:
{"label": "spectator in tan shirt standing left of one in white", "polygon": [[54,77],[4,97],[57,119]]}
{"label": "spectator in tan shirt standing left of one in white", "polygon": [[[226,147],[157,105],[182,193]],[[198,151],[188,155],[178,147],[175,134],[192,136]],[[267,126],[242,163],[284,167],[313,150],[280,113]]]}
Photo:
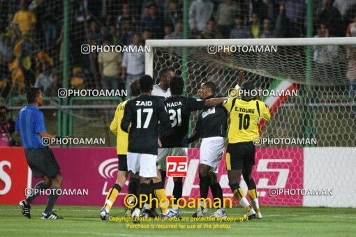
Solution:
{"label": "spectator in tan shirt standing left of one in white", "polygon": [[[110,45],[110,39],[104,40],[104,45]],[[119,89],[119,68],[122,57],[118,52],[100,52],[98,55],[99,70],[103,89]]]}

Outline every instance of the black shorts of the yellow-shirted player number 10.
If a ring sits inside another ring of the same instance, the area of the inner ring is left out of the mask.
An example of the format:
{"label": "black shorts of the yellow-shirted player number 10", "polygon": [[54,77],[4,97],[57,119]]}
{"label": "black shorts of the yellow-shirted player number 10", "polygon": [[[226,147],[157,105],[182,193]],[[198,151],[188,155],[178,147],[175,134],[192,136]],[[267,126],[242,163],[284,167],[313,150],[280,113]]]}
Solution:
{"label": "black shorts of the yellow-shirted player number 10", "polygon": [[255,165],[255,145],[253,142],[229,143],[226,149],[226,168],[244,169]]}

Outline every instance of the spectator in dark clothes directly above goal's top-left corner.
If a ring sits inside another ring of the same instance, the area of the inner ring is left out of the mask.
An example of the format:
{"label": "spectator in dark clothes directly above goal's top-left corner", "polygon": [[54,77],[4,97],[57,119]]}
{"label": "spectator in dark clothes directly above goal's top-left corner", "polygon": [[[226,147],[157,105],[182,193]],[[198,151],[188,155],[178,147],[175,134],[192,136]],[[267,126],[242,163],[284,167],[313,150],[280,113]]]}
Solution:
{"label": "spectator in dark clothes directly above goal's top-left corner", "polygon": [[163,38],[163,19],[157,14],[156,3],[147,6],[147,13],[142,19],[142,26],[151,29],[153,38]]}

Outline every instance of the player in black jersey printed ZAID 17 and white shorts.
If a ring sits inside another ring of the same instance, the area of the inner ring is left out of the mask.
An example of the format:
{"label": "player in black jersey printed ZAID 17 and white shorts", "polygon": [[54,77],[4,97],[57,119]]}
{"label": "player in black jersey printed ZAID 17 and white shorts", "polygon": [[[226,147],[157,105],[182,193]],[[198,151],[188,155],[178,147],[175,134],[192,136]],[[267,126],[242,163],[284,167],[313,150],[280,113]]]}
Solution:
{"label": "player in black jersey printed ZAID 17 and white shorts", "polygon": [[[163,101],[151,96],[154,84],[152,77],[143,75],[139,82],[141,95],[126,103],[121,129],[128,132],[128,171],[140,174],[140,195],[149,197],[149,181],[157,176],[158,121],[165,132],[171,132],[172,126]],[[167,198],[162,182],[155,183],[154,190],[158,200]],[[136,223],[142,206],[139,199],[132,214]],[[161,217],[177,216],[175,211],[165,206],[168,205],[161,206]]]}

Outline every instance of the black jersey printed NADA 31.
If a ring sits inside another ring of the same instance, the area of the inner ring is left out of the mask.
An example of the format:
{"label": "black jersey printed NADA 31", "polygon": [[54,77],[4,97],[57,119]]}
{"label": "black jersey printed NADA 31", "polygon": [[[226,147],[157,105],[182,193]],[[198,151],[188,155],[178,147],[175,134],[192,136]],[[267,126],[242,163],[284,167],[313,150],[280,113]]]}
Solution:
{"label": "black jersey printed NADA 31", "polygon": [[188,147],[187,137],[191,112],[204,109],[205,100],[172,96],[166,98],[164,104],[170,116],[173,132],[168,137],[162,137],[162,147]]}

